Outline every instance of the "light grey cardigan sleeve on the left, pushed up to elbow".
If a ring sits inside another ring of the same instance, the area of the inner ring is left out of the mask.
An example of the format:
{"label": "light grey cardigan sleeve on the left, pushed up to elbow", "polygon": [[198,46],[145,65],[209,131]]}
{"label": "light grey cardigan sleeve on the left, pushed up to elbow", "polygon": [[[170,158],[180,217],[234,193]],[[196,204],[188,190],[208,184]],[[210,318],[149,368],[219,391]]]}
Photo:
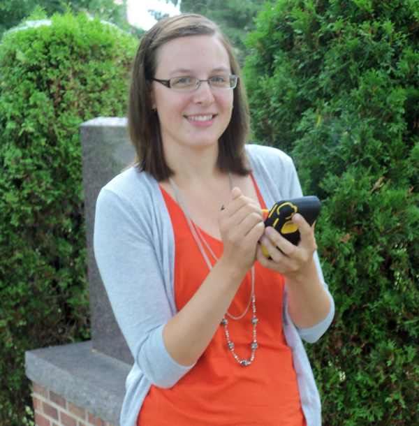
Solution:
{"label": "light grey cardigan sleeve on the left, pushed up to elbow", "polygon": [[162,242],[151,214],[145,217],[137,207],[107,187],[101,190],[94,226],[96,263],[135,363],[151,383],[170,388],[193,366],[177,364],[163,343],[163,327],[175,312],[156,249],[156,240]]}

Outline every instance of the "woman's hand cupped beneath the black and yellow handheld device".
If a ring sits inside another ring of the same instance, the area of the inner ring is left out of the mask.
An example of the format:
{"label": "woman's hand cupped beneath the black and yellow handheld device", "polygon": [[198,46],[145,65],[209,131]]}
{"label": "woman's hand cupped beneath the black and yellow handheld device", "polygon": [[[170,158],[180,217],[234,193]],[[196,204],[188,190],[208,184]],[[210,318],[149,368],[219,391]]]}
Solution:
{"label": "woman's hand cupped beneath the black and yellow handheld device", "polygon": [[[313,254],[317,249],[314,225],[309,226],[301,214],[294,214],[293,223],[300,231],[301,240],[297,246],[286,240],[277,230],[267,227],[260,238],[260,244],[270,254],[268,259],[258,246],[257,259],[260,264],[297,281],[306,280],[312,273]],[[280,249],[278,249],[278,248]]]}

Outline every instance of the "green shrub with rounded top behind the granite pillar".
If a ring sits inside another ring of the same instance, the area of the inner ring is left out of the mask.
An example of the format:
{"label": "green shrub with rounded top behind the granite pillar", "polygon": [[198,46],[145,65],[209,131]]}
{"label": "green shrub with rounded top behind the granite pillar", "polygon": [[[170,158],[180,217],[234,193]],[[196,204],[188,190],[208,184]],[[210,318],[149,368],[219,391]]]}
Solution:
{"label": "green shrub with rounded top behind the granite pillar", "polygon": [[1,425],[31,402],[24,351],[89,337],[79,125],[124,116],[137,44],[70,14],[1,41]]}

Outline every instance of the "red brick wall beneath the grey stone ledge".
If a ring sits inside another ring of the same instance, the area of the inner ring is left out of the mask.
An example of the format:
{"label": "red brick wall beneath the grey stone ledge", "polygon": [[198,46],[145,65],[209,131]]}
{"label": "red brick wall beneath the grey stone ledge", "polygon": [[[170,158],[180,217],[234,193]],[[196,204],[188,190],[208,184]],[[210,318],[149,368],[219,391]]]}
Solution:
{"label": "red brick wall beneath the grey stone ledge", "polygon": [[112,426],[38,383],[32,387],[36,426]]}

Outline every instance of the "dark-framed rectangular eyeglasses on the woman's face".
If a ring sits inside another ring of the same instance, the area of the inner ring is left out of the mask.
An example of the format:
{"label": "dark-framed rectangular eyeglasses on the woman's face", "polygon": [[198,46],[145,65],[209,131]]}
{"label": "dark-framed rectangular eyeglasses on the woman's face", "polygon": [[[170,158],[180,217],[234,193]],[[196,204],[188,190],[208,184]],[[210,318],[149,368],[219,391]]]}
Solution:
{"label": "dark-framed rectangular eyeglasses on the woman's face", "polygon": [[169,80],[159,80],[158,78],[152,78],[152,80],[169,87],[174,91],[193,91],[198,89],[200,82],[206,81],[210,87],[214,90],[230,90],[237,86],[239,78],[237,75],[215,75],[207,80],[200,80],[196,77],[182,76],[173,77]]}

